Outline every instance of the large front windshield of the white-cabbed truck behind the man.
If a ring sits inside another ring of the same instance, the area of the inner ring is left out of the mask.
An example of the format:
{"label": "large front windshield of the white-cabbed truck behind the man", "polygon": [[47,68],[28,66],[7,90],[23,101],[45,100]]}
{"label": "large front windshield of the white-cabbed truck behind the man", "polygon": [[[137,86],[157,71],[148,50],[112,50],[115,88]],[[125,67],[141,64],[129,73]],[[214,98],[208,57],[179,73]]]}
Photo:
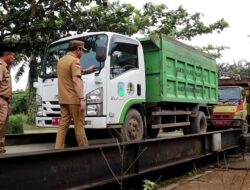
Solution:
{"label": "large front windshield of the white-cabbed truck behind the man", "polygon": [[[96,47],[107,47],[108,36],[105,34],[90,35],[75,38],[74,40],[82,40],[85,42],[87,51],[80,59],[82,67],[88,68],[94,65],[98,70],[100,65],[96,60]],[[43,60],[41,77],[56,77],[56,64],[58,60],[68,52],[69,41],[70,40],[62,41],[49,46]]]}

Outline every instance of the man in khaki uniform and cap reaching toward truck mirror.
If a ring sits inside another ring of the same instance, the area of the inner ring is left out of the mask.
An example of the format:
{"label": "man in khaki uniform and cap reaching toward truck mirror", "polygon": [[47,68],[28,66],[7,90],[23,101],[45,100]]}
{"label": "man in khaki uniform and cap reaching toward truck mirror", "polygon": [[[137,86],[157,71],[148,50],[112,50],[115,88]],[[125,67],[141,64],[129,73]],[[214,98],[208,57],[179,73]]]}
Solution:
{"label": "man in khaki uniform and cap reaching toward truck mirror", "polygon": [[83,93],[81,74],[95,71],[94,66],[83,70],[80,58],[86,49],[84,42],[72,40],[69,43],[70,52],[63,56],[57,63],[58,95],[61,107],[60,126],[56,136],[56,149],[64,148],[65,136],[68,132],[71,119],[75,126],[75,135],[79,147],[88,146],[88,139],[84,130],[84,111],[86,100]]}

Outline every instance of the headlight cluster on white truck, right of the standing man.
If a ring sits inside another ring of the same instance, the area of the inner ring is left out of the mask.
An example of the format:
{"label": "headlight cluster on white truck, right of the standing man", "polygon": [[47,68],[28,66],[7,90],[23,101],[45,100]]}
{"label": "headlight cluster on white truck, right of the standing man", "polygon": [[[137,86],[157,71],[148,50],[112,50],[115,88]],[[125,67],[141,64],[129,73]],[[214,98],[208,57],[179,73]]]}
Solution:
{"label": "headlight cluster on white truck, right of the standing man", "polygon": [[103,115],[103,88],[97,88],[86,95],[87,115]]}

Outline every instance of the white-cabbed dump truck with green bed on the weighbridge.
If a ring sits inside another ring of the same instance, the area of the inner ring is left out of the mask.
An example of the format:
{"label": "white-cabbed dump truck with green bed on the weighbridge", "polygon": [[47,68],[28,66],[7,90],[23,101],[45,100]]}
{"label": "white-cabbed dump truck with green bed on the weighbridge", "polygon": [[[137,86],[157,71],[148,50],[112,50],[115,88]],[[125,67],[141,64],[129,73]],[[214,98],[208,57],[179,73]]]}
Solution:
{"label": "white-cabbed dump truck with green bed on the weighbridge", "polygon": [[[140,39],[112,32],[84,33],[49,45],[37,88],[39,127],[60,123],[56,64],[70,40],[83,40],[85,128],[111,129],[123,141],[156,137],[160,129],[204,133],[218,102],[215,59],[164,34]],[[73,126],[73,124],[72,124]]]}

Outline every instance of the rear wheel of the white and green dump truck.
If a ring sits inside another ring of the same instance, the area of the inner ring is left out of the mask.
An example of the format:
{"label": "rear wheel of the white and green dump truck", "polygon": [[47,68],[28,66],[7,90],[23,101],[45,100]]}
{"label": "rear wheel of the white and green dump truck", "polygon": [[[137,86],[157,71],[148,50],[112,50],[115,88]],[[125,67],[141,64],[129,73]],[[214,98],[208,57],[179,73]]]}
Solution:
{"label": "rear wheel of the white and green dump truck", "polygon": [[192,133],[206,133],[207,132],[207,119],[204,112],[199,111],[197,117],[191,122]]}

